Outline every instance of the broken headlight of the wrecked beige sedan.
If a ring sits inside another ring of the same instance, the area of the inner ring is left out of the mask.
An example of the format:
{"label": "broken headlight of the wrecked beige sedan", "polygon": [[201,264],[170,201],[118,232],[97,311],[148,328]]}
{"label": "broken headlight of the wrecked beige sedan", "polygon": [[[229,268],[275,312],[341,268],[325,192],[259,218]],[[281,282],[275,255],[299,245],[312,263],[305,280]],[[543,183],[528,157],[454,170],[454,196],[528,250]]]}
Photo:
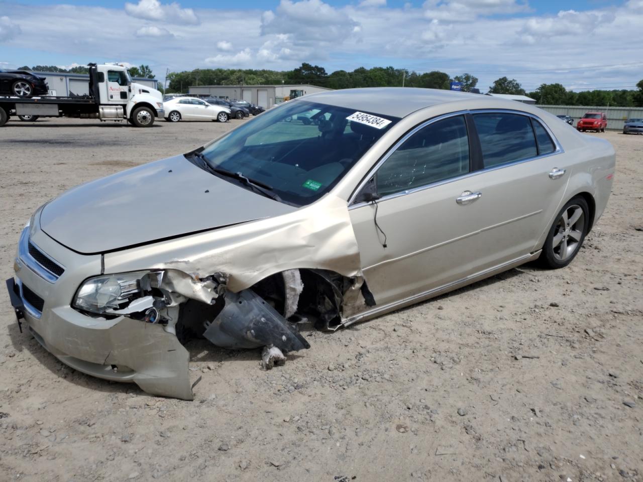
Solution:
{"label": "broken headlight of the wrecked beige sedan", "polygon": [[72,306],[96,314],[119,310],[158,287],[162,276],[162,271],[134,271],[89,278],[78,288]]}

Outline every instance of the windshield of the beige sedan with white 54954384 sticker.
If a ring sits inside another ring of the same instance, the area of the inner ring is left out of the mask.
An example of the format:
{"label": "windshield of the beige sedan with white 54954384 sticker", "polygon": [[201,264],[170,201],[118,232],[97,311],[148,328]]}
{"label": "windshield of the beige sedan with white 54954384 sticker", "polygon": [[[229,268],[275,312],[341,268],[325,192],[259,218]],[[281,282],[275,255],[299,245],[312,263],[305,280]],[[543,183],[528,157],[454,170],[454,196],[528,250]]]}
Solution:
{"label": "windshield of the beige sedan with white 54954384 sticker", "polygon": [[303,206],[329,192],[398,120],[377,114],[348,120],[352,114],[354,109],[289,102],[207,145],[201,154],[212,168],[240,173],[268,186],[282,201]]}

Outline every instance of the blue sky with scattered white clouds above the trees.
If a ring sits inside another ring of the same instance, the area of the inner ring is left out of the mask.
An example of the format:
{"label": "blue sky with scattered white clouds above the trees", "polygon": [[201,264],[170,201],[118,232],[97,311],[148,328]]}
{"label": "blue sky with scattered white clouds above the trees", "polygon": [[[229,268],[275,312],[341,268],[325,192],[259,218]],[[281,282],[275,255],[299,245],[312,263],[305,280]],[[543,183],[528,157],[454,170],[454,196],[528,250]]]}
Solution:
{"label": "blue sky with scattered white clouds above the trees", "polygon": [[163,78],[310,62],[634,88],[642,26],[643,0],[0,0],[0,67],[118,61]]}

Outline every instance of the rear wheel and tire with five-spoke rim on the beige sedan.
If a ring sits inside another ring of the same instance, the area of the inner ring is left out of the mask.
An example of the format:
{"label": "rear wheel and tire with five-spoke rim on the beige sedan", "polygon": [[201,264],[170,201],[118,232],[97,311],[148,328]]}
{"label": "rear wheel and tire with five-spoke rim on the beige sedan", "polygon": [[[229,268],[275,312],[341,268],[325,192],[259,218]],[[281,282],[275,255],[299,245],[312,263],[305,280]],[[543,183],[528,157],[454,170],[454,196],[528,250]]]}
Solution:
{"label": "rear wheel and tire with five-spoke rim on the beige sedan", "polygon": [[587,201],[581,196],[570,199],[549,229],[538,258],[539,264],[548,269],[559,269],[571,263],[583,245],[589,226]]}

